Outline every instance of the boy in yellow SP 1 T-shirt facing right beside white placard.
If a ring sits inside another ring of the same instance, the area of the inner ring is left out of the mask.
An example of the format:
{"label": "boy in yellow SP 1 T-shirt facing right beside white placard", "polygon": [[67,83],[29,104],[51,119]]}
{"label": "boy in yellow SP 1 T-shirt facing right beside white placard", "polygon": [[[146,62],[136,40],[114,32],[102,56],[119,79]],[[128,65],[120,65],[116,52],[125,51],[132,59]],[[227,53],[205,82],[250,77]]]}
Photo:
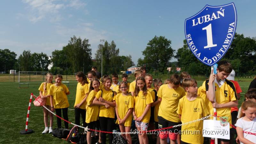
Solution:
{"label": "boy in yellow SP 1 T-shirt facing right beside white placard", "polygon": [[[179,100],[177,114],[180,115],[181,122],[186,123],[209,115],[203,98],[197,96],[196,80],[185,78],[182,81],[182,86],[187,95]],[[181,141],[193,144],[204,143],[202,129],[203,121],[182,125],[179,132],[181,133]]]}

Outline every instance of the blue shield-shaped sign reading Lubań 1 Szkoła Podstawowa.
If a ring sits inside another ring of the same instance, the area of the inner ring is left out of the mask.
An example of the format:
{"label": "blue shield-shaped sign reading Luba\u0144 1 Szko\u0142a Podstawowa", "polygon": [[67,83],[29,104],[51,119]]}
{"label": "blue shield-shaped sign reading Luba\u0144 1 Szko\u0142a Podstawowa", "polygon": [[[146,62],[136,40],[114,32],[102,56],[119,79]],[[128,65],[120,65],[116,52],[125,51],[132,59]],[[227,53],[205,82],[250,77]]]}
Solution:
{"label": "blue shield-shaped sign reading Luba\u0144 1 Szko\u0142a Podstawowa", "polygon": [[188,46],[198,60],[208,66],[217,63],[228,51],[236,31],[234,3],[210,6],[185,20]]}

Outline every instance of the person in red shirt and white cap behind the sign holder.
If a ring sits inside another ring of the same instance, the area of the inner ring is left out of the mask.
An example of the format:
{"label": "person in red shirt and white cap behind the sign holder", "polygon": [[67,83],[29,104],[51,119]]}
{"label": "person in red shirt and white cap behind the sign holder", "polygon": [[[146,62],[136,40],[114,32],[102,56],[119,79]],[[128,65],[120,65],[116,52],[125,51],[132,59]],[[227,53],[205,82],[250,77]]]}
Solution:
{"label": "person in red shirt and white cap behind the sign holder", "polygon": [[[236,72],[233,69],[232,72],[228,75],[227,79],[230,80],[232,83],[234,83],[234,85],[236,87],[237,99],[239,100],[241,97],[240,92],[242,92],[242,90],[241,90],[241,87],[238,84],[238,82],[235,81],[235,75],[236,75]],[[237,107],[231,108],[232,124],[236,124],[235,121],[236,121],[237,113],[238,113]],[[230,131],[230,142],[232,142],[232,141],[234,141],[234,135],[236,134],[236,129],[232,128],[230,130],[231,130]]]}

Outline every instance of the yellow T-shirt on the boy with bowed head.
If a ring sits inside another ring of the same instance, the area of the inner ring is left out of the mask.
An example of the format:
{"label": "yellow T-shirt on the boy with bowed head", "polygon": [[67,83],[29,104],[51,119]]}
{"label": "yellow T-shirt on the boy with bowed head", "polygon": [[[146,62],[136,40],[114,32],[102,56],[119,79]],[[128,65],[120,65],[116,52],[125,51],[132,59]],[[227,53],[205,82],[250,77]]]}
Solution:
{"label": "yellow T-shirt on the boy with bowed head", "polygon": [[180,122],[177,114],[179,100],[185,95],[185,90],[182,87],[177,89],[169,88],[168,84],[160,86],[157,96],[162,98],[159,106],[158,116],[172,122]]}

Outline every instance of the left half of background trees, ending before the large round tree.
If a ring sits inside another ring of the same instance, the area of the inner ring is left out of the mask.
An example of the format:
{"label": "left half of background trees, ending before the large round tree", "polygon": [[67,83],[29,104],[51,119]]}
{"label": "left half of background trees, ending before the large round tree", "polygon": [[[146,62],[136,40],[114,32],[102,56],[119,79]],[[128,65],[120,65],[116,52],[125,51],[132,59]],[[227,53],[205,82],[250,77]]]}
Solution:
{"label": "left half of background trees, ending before the large round tree", "polygon": [[[103,73],[119,73],[134,65],[132,56],[120,56],[119,48],[112,41],[110,44],[105,41],[103,45],[99,44],[95,53],[95,61],[92,61],[92,49],[88,39],[81,39],[73,36],[68,44],[62,47],[62,50],[54,50],[52,59],[47,54],[31,53],[30,50],[24,50],[16,59],[17,54],[8,49],[0,49],[0,72],[8,73],[11,69],[18,71],[49,71],[55,74],[73,75],[77,71],[88,72],[92,66],[101,69],[101,49],[103,50]],[[48,66],[52,63],[52,68]]]}

